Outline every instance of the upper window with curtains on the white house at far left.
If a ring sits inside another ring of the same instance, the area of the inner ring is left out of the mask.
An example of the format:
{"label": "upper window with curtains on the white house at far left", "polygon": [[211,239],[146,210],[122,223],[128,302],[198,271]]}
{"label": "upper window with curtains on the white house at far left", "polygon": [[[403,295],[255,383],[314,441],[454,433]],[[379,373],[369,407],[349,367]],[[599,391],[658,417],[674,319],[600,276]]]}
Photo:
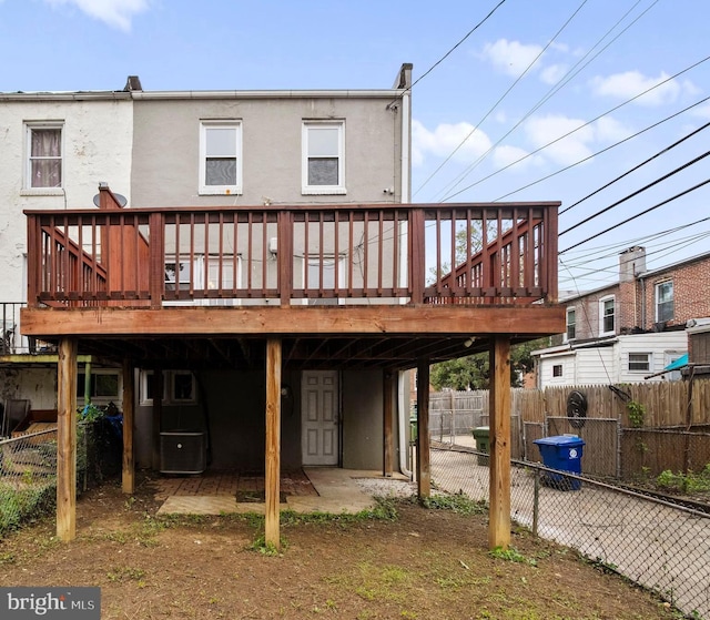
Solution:
{"label": "upper window with curtains on the white house at far left", "polygon": [[27,123],[27,190],[61,189],[62,126],[60,122]]}

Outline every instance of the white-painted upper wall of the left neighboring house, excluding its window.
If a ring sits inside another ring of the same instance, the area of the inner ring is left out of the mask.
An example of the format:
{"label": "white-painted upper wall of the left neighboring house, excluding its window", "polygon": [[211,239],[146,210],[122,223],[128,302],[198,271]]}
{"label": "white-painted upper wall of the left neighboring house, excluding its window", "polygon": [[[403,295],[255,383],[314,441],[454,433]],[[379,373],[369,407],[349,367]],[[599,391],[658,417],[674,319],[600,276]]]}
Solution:
{"label": "white-painted upper wall of the left neighboring house, excluding its window", "polygon": [[[90,209],[101,181],[130,204],[132,105],[122,98],[39,101],[3,100],[0,95],[0,302],[27,299],[23,210]],[[63,122],[63,187],[24,189],[27,121]]]}

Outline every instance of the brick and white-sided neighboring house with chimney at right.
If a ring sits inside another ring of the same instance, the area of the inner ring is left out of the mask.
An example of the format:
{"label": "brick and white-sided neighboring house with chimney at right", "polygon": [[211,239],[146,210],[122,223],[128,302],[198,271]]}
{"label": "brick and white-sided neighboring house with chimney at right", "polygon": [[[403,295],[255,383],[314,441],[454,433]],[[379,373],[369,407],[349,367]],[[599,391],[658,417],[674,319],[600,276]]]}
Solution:
{"label": "brick and white-sided neighboring house with chimney at right", "polygon": [[567,331],[534,353],[538,387],[669,380],[688,352],[686,323],[710,313],[710,254],[646,270],[646,251],[619,256],[619,282],[567,296]]}

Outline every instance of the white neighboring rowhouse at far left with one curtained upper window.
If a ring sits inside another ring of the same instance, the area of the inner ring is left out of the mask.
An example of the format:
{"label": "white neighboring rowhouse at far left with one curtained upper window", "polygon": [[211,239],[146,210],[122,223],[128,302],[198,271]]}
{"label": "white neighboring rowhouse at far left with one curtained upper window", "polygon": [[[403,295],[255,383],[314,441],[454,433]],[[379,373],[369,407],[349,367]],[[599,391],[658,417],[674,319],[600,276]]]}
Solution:
{"label": "white neighboring rowhouse at far left with one curtained upper window", "polygon": [[[27,398],[34,409],[57,407],[55,346],[21,333],[28,289],[23,210],[91,206],[99,181],[108,179],[130,201],[132,150],[128,90],[0,93],[0,405]],[[97,404],[120,398],[115,370],[109,382],[115,392],[108,396],[90,386]]]}

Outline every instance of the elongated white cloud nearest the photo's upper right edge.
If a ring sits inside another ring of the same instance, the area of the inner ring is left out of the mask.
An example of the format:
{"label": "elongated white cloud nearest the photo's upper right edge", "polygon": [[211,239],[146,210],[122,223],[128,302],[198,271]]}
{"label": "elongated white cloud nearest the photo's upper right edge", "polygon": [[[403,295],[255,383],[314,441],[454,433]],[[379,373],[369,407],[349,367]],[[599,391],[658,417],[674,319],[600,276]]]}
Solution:
{"label": "elongated white cloud nearest the photo's upper right edge", "polygon": [[[590,85],[596,95],[612,96],[622,100],[631,99],[649,89],[653,89],[636,100],[640,105],[673,103],[682,94],[694,94],[698,92],[697,87],[688,80],[668,80],[668,78],[669,75],[665,72],[661,72],[658,78],[649,78],[640,71],[626,71],[625,73],[615,73],[607,78],[598,75],[591,80]],[[658,85],[666,80],[668,80],[666,83]]]}

